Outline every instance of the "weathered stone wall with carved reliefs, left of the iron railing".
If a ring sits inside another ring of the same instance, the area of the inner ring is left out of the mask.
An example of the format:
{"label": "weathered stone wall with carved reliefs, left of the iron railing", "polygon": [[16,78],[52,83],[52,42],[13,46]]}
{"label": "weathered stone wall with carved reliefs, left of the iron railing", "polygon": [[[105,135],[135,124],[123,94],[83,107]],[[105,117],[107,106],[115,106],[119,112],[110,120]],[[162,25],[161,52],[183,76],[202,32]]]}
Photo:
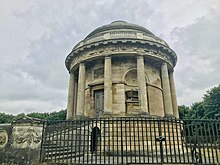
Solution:
{"label": "weathered stone wall with carved reliefs, left of the iron railing", "polygon": [[43,125],[22,118],[0,125],[0,164],[39,164]]}

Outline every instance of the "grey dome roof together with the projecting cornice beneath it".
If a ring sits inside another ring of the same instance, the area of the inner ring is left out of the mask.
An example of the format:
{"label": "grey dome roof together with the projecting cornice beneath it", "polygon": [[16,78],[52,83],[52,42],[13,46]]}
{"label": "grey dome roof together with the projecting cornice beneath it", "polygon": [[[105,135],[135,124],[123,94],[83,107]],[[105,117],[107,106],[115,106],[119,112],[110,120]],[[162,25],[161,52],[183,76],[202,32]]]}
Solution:
{"label": "grey dome roof together with the projecting cornice beneath it", "polygon": [[71,63],[76,62],[83,52],[94,52],[101,47],[116,45],[135,47],[135,49],[143,47],[148,55],[153,53],[151,56],[158,59],[166,58],[173,66],[177,61],[177,56],[169,45],[146,28],[125,21],[114,21],[93,30],[85,39],[76,44],[65,60],[66,67],[70,70]]}

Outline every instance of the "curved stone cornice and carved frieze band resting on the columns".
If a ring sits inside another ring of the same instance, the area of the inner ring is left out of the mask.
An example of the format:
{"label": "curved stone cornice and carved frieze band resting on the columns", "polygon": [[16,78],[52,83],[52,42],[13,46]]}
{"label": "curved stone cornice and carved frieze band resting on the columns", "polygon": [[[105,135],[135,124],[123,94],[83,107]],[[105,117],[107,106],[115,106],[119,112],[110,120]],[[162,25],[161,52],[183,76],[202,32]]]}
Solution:
{"label": "curved stone cornice and carved frieze band resting on the columns", "polygon": [[[76,61],[97,58],[103,55],[115,54],[143,54],[165,60],[172,67],[176,65],[177,56],[169,47],[139,39],[114,39],[84,45],[72,51],[66,58],[65,64],[68,70],[75,65]],[[81,60],[80,60],[81,59]]]}

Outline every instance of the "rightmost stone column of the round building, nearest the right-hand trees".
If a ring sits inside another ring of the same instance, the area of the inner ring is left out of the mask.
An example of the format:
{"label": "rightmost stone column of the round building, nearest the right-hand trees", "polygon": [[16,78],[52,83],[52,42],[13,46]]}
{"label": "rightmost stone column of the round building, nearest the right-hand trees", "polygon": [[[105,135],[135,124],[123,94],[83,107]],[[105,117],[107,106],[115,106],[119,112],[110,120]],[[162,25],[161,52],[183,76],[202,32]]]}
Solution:
{"label": "rightmost stone column of the round building, nearest the right-hand trees", "polygon": [[176,88],[173,78],[173,72],[170,73],[170,91],[171,91],[171,98],[173,103],[173,115],[177,118],[179,118],[179,111],[178,111],[178,105],[177,105],[177,98],[176,98]]}

